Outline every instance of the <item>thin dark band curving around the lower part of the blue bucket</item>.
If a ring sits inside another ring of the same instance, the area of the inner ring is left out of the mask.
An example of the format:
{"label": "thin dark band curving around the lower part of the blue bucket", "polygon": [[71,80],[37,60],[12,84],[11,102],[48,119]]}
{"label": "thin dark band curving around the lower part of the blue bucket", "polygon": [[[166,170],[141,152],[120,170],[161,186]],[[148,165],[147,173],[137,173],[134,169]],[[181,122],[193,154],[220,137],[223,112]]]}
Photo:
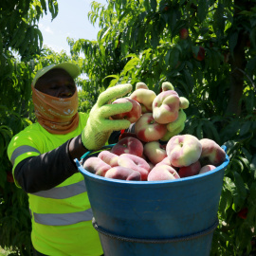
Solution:
{"label": "thin dark band curving around the lower part of the blue bucket", "polygon": [[196,238],[208,235],[211,232],[213,232],[214,229],[216,229],[218,227],[219,220],[218,220],[218,218],[216,218],[214,224],[209,229],[205,229],[205,230],[197,232],[197,233],[193,233],[193,234],[181,236],[181,237],[176,237],[176,238],[171,238],[171,239],[142,239],[142,238],[131,238],[131,237],[119,236],[119,235],[111,234],[104,229],[101,229],[98,226],[95,218],[92,219],[92,224],[93,224],[94,229],[96,229],[101,234],[108,236],[112,239],[117,239],[117,240],[121,240],[123,242],[130,242],[130,243],[165,244],[165,243],[178,243],[178,242],[190,241],[192,239],[196,239]]}

